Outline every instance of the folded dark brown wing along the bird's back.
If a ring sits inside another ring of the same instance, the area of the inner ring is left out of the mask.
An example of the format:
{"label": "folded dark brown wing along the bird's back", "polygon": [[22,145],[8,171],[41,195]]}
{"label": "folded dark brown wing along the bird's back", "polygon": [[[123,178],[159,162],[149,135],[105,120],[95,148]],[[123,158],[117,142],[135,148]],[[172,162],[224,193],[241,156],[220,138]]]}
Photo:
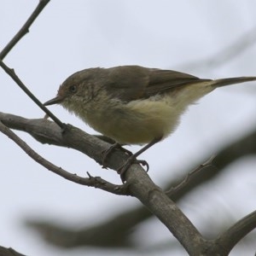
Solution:
{"label": "folded dark brown wing along the bird's back", "polygon": [[167,90],[209,79],[199,79],[187,73],[139,66],[108,68],[106,88],[122,101],[148,98]]}

